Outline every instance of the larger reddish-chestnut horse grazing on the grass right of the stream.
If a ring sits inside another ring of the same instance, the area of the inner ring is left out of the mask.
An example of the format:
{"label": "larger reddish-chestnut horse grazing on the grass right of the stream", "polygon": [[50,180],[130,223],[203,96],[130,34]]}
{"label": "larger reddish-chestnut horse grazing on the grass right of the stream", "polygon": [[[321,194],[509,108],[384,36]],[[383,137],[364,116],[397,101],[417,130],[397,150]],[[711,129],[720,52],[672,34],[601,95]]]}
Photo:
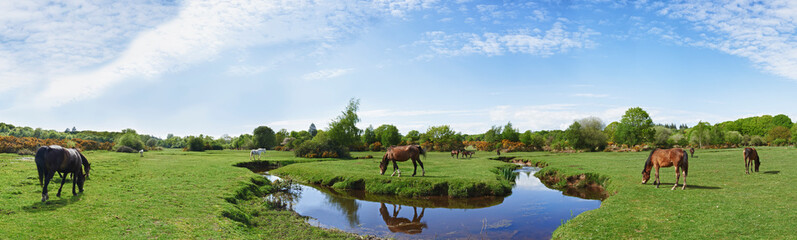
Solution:
{"label": "larger reddish-chestnut horse grazing on the grass right of the stream", "polygon": [[675,187],[678,187],[681,171],[683,171],[684,174],[684,185],[681,189],[686,189],[686,174],[689,169],[688,160],[689,155],[686,154],[686,150],[680,148],[653,149],[653,151],[650,152],[650,156],[648,156],[648,160],[645,161],[645,168],[642,169],[642,184],[648,182],[651,169],[656,167],[656,180],[653,181],[653,184],[658,188],[659,185],[661,185],[661,181],[659,180],[659,168],[675,166],[675,185],[672,186],[671,190],[675,190]]}

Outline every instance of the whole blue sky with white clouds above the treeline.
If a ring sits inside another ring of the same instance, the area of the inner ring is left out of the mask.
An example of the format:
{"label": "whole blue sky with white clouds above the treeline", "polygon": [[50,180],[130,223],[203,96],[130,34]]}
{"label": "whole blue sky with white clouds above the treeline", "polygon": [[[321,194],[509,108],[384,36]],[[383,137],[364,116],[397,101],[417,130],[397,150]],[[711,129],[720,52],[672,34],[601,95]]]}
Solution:
{"label": "whole blue sky with white clouds above the treeline", "polygon": [[797,117],[795,1],[5,1],[0,121],[175,135]]}

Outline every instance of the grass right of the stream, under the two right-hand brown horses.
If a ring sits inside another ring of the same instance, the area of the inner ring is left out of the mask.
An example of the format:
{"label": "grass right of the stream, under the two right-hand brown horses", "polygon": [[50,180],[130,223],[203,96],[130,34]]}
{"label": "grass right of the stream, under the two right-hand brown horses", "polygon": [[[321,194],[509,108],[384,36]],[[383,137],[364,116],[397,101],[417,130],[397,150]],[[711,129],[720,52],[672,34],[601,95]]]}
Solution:
{"label": "grass right of the stream, under the two right-hand brown horses", "polygon": [[794,238],[797,150],[760,148],[759,154],[761,171],[745,175],[741,149],[697,150],[687,189],[676,191],[670,190],[674,168],[662,168],[661,188],[640,184],[649,152],[510,155],[545,162],[549,174],[606,178],[613,195],[559,227],[554,238]]}

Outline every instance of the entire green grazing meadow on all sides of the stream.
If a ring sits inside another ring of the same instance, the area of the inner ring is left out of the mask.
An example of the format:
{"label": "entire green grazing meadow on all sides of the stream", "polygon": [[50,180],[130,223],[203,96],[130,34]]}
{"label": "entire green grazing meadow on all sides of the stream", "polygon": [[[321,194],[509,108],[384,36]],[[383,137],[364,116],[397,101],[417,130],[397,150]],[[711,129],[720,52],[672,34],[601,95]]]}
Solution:
{"label": "entire green grazing meadow on all sides of the stream", "polygon": [[[56,177],[47,203],[40,202],[32,158],[0,154],[0,238],[363,237],[312,227],[305,218],[264,202],[261,196],[279,191],[280,186],[234,166],[249,162],[247,151],[166,150],[147,152],[144,157],[105,151],[85,154],[92,163],[86,191],[73,197],[65,189],[62,197],[55,197],[60,183]],[[744,174],[741,149],[698,149],[697,157],[689,159],[686,190],[674,191],[670,190],[675,180],[673,168],[662,168],[661,188],[640,184],[648,154],[533,152],[502,156],[544,162],[547,167],[540,175],[593,176],[609,192],[600,208],[559,227],[553,235],[557,239],[794,238],[797,168],[793,161],[797,149],[759,148],[761,169],[750,175]],[[378,175],[380,153],[353,155],[376,158],[319,161],[269,151],[264,160],[284,166],[272,173],[299,181],[404,196],[500,193],[498,189],[507,182],[502,169],[511,167],[489,160],[495,155],[488,152],[460,160],[447,153],[429,153],[422,159],[425,177],[420,176],[420,169],[418,176],[411,177],[412,164],[401,162],[399,178],[389,177],[389,171]]]}

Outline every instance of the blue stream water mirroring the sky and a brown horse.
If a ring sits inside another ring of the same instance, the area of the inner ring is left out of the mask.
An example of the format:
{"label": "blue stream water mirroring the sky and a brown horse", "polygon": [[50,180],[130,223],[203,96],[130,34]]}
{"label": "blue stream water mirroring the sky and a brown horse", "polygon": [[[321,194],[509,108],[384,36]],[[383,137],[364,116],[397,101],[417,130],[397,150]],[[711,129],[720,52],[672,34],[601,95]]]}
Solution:
{"label": "blue stream water mirroring the sky and a brown horse", "polygon": [[[314,218],[310,221],[313,225],[359,234],[413,239],[547,239],[563,220],[600,206],[598,200],[569,197],[548,189],[534,177],[537,170],[528,167],[518,170],[512,195],[501,204],[485,208],[422,208],[389,203],[383,206],[379,202],[333,196],[302,186],[301,197],[293,209]],[[276,178],[269,176],[269,179]]]}

